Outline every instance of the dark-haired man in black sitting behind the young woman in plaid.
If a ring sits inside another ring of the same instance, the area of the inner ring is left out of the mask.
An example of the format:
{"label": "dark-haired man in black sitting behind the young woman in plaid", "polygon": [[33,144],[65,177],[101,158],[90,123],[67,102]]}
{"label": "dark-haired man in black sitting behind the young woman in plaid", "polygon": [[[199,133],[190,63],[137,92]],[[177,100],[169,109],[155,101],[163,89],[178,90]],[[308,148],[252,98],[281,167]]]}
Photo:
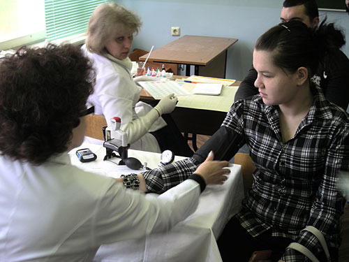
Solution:
{"label": "dark-haired man in black sitting behind the young woman in plaid", "polygon": [[[290,20],[299,20],[310,28],[318,27],[319,13],[315,0],[285,0],[281,9],[281,22]],[[340,48],[345,43],[340,34],[332,39],[329,48],[323,50],[320,66],[312,79],[321,87],[326,99],[344,110],[349,103],[349,59]],[[235,101],[258,94],[258,89],[255,88],[256,78],[257,72],[252,66],[235,94]]]}

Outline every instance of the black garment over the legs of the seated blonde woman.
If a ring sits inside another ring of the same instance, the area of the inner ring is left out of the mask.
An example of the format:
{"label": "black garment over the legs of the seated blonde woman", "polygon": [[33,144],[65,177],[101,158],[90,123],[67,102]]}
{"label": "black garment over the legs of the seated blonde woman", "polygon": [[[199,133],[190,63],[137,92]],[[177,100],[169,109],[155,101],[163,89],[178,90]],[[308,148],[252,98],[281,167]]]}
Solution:
{"label": "black garment over the legs of the seated blonde woman", "polygon": [[169,114],[162,115],[167,126],[162,129],[150,132],[155,136],[160,146],[161,152],[164,150],[171,150],[176,156],[191,157],[194,152],[189,147],[186,139],[182,136],[177,125],[174,123],[172,117]]}

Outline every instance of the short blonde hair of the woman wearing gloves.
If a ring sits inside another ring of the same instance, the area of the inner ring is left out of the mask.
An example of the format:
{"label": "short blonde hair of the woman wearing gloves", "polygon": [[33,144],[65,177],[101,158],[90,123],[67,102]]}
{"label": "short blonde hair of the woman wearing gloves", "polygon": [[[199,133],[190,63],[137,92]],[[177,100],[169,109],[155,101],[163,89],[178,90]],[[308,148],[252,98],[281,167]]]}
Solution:
{"label": "short blonde hair of the woman wearing gloves", "polygon": [[138,33],[142,22],[140,17],[117,3],[102,3],[89,18],[86,47],[89,52],[105,53],[105,41],[115,29],[129,29]]}

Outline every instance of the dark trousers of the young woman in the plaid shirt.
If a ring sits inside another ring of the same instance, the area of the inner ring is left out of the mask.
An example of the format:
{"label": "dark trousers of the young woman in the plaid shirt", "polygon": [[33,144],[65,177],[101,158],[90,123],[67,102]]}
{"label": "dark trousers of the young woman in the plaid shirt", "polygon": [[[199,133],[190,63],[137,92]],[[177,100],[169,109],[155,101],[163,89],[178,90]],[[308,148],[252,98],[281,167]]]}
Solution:
{"label": "dark trousers of the young woman in the plaid shirt", "polygon": [[[294,241],[289,238],[273,237],[270,230],[253,238],[235,217],[228,221],[217,240],[219,252],[225,262],[248,261],[253,252],[266,249],[272,250],[270,261],[279,261],[291,242]],[[329,247],[329,254],[332,262],[338,261],[338,249]],[[318,259],[326,261],[324,258]]]}

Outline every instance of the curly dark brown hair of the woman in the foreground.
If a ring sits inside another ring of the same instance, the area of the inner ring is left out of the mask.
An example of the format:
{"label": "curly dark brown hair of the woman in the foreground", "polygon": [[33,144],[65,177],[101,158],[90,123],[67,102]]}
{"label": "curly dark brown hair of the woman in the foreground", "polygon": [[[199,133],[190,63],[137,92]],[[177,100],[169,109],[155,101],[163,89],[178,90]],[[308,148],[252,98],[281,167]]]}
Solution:
{"label": "curly dark brown hair of the woman in the foreground", "polygon": [[76,147],[72,131],[93,92],[90,62],[72,45],[49,45],[19,50],[0,70],[1,154],[40,164]]}

